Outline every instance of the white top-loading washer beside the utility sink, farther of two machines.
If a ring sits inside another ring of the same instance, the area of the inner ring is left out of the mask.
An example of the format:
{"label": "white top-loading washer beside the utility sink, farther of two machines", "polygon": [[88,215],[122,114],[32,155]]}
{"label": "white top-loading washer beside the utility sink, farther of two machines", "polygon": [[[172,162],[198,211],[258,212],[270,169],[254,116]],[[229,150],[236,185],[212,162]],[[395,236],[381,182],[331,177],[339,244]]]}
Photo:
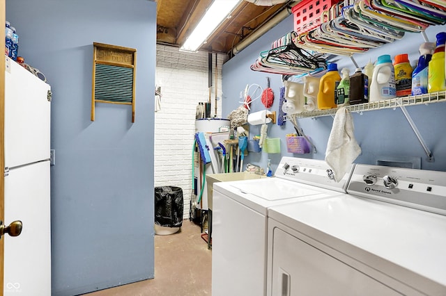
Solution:
{"label": "white top-loading washer beside the utility sink, farther of two machines", "polygon": [[329,173],[325,161],[284,157],[275,177],[214,184],[213,296],[266,295],[268,208],[346,192],[349,174]]}

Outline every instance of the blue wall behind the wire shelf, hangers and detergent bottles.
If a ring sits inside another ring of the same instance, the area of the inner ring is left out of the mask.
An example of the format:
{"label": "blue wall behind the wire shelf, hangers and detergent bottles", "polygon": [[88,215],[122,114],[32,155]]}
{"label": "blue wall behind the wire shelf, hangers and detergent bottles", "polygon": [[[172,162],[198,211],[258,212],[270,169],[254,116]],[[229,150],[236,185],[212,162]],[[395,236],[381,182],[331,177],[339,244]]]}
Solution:
{"label": "blue wall behind the wire shelf, hangers and detergent bottles", "polygon": [[[266,88],[267,76],[271,79],[271,88],[275,93],[275,101],[270,110],[275,110],[278,114],[279,89],[283,85],[281,76],[254,72],[249,67],[259,57],[261,51],[270,49],[273,41],[281,38],[289,31],[293,31],[292,15],[223,65],[223,117],[240,106],[240,91],[244,90],[247,84],[257,83],[262,88]],[[431,26],[426,30],[426,35],[431,42],[435,42],[436,33],[441,31],[446,31],[446,26]],[[361,67],[368,62],[369,58],[373,62],[381,54],[390,54],[393,58],[397,54],[407,53],[410,61],[415,61],[419,57],[418,47],[422,42],[424,42],[424,39],[419,33],[406,33],[402,40],[386,44],[378,49],[371,49],[365,54],[355,54],[354,58]],[[338,57],[336,60],[339,70],[342,67],[348,67],[353,74],[355,66],[350,58]],[[252,103],[251,112],[264,108],[259,99]],[[446,136],[444,135],[446,104],[412,106],[408,107],[407,110],[420,130],[427,147],[431,149],[435,161],[427,161],[422,145],[420,145],[401,110],[385,109],[364,112],[362,115],[353,113],[355,138],[362,148],[362,154],[357,157],[355,163],[376,164],[378,159],[382,160],[389,157],[403,158],[403,160],[406,160],[406,158],[421,158],[422,169],[446,171]],[[298,120],[305,133],[314,141],[317,147],[317,153],[315,154],[289,154],[286,151],[285,135],[294,132],[291,122],[286,122],[284,126],[268,124],[268,136],[270,138],[281,138],[282,153],[250,153],[245,157],[245,163],[254,163],[266,168],[268,158],[270,158],[274,171],[282,156],[324,159],[332,122],[333,118],[331,116]],[[259,133],[260,126],[250,126],[251,135]]]}

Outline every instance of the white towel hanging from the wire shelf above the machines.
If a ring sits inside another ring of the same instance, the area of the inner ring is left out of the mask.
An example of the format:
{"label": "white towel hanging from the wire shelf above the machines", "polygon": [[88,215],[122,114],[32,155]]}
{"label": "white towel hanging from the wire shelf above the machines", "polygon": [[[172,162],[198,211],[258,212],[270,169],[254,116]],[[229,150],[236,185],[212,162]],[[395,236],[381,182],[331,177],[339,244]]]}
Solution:
{"label": "white towel hanging from the wire shelf above the machines", "polygon": [[325,151],[325,162],[334,172],[334,180],[341,181],[347,170],[358,155],[361,147],[357,145],[353,134],[353,118],[350,111],[345,107],[339,108],[334,121],[330,137],[328,138],[327,151]]}

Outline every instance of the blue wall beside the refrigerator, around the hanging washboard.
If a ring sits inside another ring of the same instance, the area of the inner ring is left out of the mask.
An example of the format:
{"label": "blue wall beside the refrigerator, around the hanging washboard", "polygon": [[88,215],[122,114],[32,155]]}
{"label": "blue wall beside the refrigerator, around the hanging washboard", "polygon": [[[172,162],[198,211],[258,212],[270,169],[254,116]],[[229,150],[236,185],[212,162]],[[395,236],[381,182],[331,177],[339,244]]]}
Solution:
{"label": "blue wall beside the refrigerator, around the hanging washboard", "polygon": [[[156,3],[7,1],[6,19],[52,85],[52,294],[153,278]],[[134,124],[114,104],[90,121],[93,42],[137,49]]]}

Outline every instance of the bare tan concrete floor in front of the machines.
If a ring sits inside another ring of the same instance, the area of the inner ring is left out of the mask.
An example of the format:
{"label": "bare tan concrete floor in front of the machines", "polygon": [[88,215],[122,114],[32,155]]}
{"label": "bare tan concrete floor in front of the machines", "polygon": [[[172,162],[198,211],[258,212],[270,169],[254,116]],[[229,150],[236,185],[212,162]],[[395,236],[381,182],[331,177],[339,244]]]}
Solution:
{"label": "bare tan concrete floor in front of the machines", "polygon": [[178,233],[155,235],[155,279],[88,293],[88,296],[211,295],[211,251],[200,227],[183,221]]}

